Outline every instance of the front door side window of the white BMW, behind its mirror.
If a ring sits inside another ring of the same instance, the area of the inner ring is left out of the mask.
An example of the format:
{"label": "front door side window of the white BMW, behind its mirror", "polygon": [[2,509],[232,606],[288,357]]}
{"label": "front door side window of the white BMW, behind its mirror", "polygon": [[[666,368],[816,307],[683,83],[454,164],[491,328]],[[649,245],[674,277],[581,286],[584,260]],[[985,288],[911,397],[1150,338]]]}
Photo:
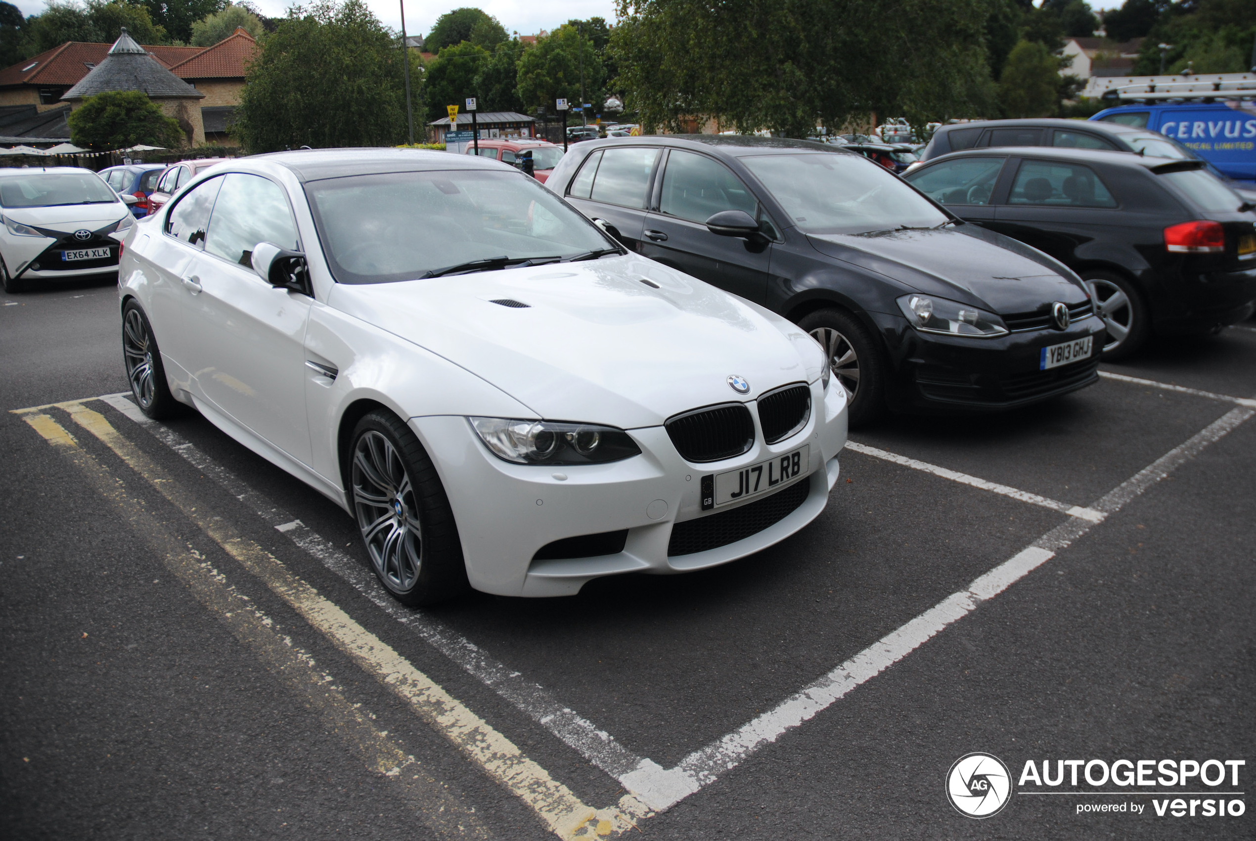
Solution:
{"label": "front door side window of the white BMW, behind its mirror", "polygon": [[215,181],[222,182],[222,190],[214,202],[206,251],[241,266],[251,266],[252,250],[259,242],[270,242],[289,251],[300,250],[296,222],[279,185],[240,172]]}

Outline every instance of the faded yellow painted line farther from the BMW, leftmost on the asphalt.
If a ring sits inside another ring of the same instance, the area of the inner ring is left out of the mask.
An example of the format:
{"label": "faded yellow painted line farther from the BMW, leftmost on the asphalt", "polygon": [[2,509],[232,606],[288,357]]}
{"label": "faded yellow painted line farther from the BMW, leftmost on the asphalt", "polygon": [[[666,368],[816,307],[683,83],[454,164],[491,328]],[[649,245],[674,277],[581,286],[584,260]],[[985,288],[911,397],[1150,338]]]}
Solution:
{"label": "faded yellow painted line farther from the BMW, leftmost on the asphalt", "polygon": [[214,613],[279,680],[288,684],[324,723],[338,733],[365,762],[368,771],[383,774],[388,790],[412,808],[438,837],[491,838],[472,807],[452,796],[446,785],[431,777],[423,763],[407,756],[387,733],[372,723],[373,715],[352,703],[335,678],[318,668],[314,658],[283,634],[270,616],[226,581],[196,550],[180,544],[144,510],[143,501],[131,496],[126,486],[55,419],[30,413],[28,424],[49,444],[65,454],[94,490],[131,528],[152,549],[162,564],[207,610]]}

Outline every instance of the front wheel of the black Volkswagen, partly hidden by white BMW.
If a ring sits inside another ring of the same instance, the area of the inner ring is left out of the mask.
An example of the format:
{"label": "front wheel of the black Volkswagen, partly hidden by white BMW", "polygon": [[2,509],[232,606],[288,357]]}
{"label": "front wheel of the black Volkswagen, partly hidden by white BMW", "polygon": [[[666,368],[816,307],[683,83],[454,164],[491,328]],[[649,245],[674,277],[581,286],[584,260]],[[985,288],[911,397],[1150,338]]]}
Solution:
{"label": "front wheel of the black Volkswagen, partly hidden by white BMW", "polygon": [[820,343],[833,377],[850,394],[850,426],[872,423],[884,414],[887,365],[864,325],[844,310],[816,310],[798,325]]}

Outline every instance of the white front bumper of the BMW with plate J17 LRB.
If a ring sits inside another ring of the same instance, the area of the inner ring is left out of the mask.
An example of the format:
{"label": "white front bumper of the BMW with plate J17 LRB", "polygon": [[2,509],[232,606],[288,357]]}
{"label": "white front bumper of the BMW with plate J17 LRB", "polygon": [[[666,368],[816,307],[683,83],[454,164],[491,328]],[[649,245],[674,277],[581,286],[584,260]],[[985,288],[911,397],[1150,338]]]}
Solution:
{"label": "white front bumper of the BMW with plate J17 LRB", "polygon": [[[496,458],[462,417],[412,418],[411,426],[445,485],[471,586],[507,596],[561,596],[574,595],[587,581],[604,575],[674,574],[726,564],[803,528],[828,503],[838,478],[836,456],[847,441],[845,392],[834,382],[824,393],[816,382],[811,385],[811,405],[806,426],[776,444],[764,443],[751,405],[755,446],[736,458],[710,464],[681,458],[663,427],[628,431],[641,456],[610,464],[543,467]],[[810,446],[810,463],[801,478],[770,496],[716,511],[701,510],[702,476],[750,466],[804,443]],[[769,503],[776,497],[780,500]],[[749,527],[735,522],[739,510],[755,522]],[[725,517],[707,522],[746,536],[705,551],[668,555],[673,527],[706,517]],[[770,525],[759,528],[760,522]],[[559,560],[535,557],[555,541],[624,531],[620,551]]]}

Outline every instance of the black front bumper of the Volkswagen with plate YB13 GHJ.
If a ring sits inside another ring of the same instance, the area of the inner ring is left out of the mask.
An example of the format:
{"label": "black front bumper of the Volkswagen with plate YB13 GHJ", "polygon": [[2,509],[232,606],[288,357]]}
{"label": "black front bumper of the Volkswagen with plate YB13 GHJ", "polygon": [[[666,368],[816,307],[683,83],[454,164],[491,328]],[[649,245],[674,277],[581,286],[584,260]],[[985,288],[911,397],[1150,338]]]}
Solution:
{"label": "black front bumper of the Volkswagen with plate YB13 GHJ", "polygon": [[[913,330],[906,319],[880,316],[896,375],[887,390],[899,412],[1002,410],[1085,388],[1099,379],[1107,331],[1098,316],[1068,330],[1027,330],[997,339],[965,339]],[[1041,370],[1042,348],[1091,336],[1090,356]]]}

